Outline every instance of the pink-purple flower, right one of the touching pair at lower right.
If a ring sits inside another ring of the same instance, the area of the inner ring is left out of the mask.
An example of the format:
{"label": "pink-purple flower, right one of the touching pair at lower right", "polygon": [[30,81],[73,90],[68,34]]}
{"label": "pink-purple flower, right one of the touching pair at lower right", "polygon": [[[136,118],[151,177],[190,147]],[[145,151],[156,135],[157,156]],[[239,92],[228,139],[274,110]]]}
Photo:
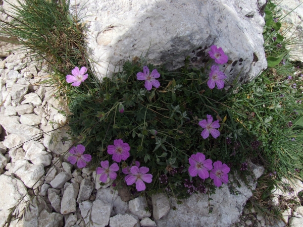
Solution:
{"label": "pink-purple flower, right one of the touching pair at lower right", "polygon": [[228,182],[228,173],[230,171],[230,168],[227,166],[227,164],[222,164],[221,161],[215,161],[214,162],[214,168],[212,169],[210,173],[210,178],[214,179],[214,184],[217,187],[220,187],[222,185],[222,182],[224,184],[227,184]]}

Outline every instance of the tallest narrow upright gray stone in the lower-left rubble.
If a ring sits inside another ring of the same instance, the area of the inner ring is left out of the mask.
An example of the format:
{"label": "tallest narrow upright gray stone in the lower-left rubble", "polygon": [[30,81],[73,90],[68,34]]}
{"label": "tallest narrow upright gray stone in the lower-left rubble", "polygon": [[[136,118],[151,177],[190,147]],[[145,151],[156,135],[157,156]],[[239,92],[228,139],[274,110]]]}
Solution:
{"label": "tallest narrow upright gray stone in the lower-left rubble", "polygon": [[78,184],[70,184],[63,193],[61,200],[61,213],[67,214],[76,211],[76,198],[79,192]]}

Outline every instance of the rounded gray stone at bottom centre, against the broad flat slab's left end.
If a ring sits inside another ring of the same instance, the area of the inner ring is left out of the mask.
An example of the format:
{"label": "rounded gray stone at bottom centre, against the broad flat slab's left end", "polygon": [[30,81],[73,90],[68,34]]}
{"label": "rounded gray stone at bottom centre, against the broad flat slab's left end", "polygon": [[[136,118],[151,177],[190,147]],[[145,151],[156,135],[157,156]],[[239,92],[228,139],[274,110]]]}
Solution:
{"label": "rounded gray stone at bottom centre, against the broad flat slab's left end", "polygon": [[165,194],[156,194],[151,197],[153,215],[156,220],[164,217],[170,210],[170,203]]}

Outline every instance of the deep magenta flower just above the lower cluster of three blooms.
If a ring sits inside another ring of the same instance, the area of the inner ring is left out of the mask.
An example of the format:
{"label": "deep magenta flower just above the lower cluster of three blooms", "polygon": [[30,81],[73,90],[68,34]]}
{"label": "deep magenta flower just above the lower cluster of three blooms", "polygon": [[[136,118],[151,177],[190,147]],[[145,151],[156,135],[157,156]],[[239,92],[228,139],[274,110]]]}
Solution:
{"label": "deep magenta flower just above the lower cluster of three blooms", "polygon": [[113,154],[113,160],[120,162],[126,160],[129,157],[130,147],[128,143],[123,143],[123,140],[114,140],[114,145],[108,146],[108,153]]}

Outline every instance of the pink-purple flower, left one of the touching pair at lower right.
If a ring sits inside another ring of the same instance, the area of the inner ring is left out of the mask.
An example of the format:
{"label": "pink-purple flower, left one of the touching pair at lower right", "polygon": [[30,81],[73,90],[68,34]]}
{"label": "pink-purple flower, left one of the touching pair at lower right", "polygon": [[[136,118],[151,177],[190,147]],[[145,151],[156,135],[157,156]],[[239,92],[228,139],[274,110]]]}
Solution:
{"label": "pink-purple flower, left one of the touching pair at lower right", "polygon": [[195,177],[198,174],[203,180],[209,178],[209,171],[213,168],[213,161],[211,159],[205,160],[203,153],[196,153],[190,156],[188,162],[190,164],[188,172],[191,177]]}

